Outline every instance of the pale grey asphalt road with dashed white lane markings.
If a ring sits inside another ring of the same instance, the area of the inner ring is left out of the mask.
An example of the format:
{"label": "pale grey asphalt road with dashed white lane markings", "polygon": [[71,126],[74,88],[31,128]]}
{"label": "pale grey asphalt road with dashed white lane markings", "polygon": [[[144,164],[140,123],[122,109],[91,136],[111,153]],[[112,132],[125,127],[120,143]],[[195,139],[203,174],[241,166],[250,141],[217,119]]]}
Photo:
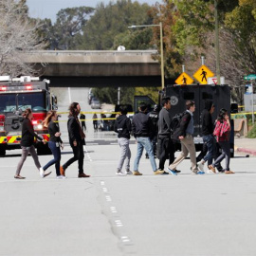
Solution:
{"label": "pale grey asphalt road with dashed white lane markings", "polygon": [[[74,163],[67,179],[57,180],[54,167],[42,179],[28,156],[27,178],[15,180],[20,152],[0,158],[0,255],[256,255],[255,157],[236,155],[231,175],[192,175],[186,159],[173,176],[154,175],[143,156],[142,176],[116,176],[115,136],[91,128],[90,178],[77,178]],[[133,142],[131,166],[136,150]],[[65,143],[62,163],[71,155]]]}

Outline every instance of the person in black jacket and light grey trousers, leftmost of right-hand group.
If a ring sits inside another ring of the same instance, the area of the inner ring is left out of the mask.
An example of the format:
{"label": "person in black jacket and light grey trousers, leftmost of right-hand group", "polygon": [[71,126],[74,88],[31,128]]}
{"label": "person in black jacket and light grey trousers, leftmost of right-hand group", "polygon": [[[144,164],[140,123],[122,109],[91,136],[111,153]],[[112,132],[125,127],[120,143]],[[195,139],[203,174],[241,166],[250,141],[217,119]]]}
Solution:
{"label": "person in black jacket and light grey trousers, leftmost of right-hand group", "polygon": [[[117,175],[126,175],[126,174],[133,174],[130,171],[130,159],[131,159],[131,150],[129,147],[129,140],[130,140],[130,133],[132,131],[132,124],[131,120],[127,118],[127,108],[125,106],[120,107],[120,116],[116,119],[114,130],[118,133],[119,137],[119,147],[120,147],[120,158],[119,158],[119,165],[117,170]],[[121,169],[126,159],[125,169],[126,173],[122,173]]]}

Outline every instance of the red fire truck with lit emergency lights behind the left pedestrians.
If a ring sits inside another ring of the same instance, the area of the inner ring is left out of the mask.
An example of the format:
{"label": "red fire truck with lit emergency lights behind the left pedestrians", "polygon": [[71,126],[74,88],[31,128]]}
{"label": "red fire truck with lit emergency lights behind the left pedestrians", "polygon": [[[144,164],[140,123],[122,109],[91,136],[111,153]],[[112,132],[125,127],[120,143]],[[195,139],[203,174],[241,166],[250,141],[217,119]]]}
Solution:
{"label": "red fire truck with lit emergency lights behind the left pedestrians", "polygon": [[[49,91],[49,81],[24,76],[12,78],[0,76],[0,156],[7,150],[19,149],[22,131],[22,113],[31,108],[35,132],[49,139],[48,131],[42,125],[49,110],[57,109],[57,98]],[[36,143],[38,155],[50,154],[47,143]]]}

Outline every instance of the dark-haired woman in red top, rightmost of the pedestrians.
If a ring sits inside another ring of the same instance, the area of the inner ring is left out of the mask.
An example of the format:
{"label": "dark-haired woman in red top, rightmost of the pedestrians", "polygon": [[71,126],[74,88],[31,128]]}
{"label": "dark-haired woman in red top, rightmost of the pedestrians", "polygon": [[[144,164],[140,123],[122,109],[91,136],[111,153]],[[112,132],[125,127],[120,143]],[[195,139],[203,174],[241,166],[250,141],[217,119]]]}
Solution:
{"label": "dark-haired woman in red top, rightmost of the pedestrians", "polygon": [[234,172],[229,170],[230,162],[230,145],[229,145],[229,135],[230,135],[230,121],[229,115],[226,109],[222,109],[219,113],[217,123],[213,132],[213,135],[217,138],[222,154],[214,161],[213,164],[209,166],[210,170],[215,173],[215,166],[217,166],[224,158],[226,158],[226,168],[225,174],[234,174]]}

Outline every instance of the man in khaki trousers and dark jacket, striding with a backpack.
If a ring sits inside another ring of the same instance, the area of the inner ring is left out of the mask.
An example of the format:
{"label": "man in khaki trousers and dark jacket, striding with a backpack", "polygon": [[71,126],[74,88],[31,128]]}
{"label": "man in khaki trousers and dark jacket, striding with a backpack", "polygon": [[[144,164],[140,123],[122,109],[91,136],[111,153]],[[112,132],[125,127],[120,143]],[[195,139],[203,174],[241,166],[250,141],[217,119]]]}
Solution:
{"label": "man in khaki trousers and dark jacket, striding with a backpack", "polygon": [[195,157],[195,146],[193,142],[193,112],[195,110],[194,101],[186,101],[187,111],[183,115],[179,128],[175,131],[176,136],[180,139],[181,143],[181,154],[178,155],[174,162],[169,165],[167,171],[171,174],[176,175],[176,167],[190,154],[192,163],[192,174],[204,174],[203,172],[198,172],[196,157]]}

